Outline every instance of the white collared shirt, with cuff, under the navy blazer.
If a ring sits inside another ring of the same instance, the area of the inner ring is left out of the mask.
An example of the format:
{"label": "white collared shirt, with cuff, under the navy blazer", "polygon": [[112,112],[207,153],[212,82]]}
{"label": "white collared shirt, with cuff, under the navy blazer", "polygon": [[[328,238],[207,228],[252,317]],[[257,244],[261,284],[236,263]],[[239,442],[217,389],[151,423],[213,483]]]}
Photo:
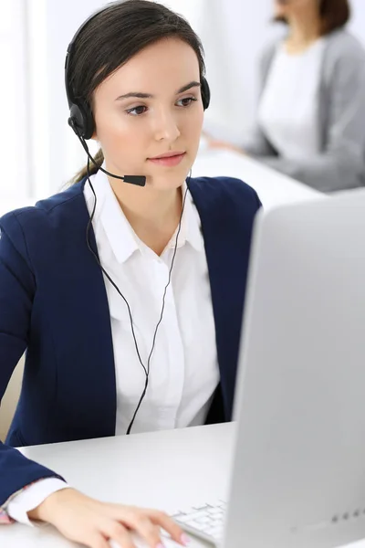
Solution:
{"label": "white collared shirt, with cuff, under the navy blazer", "polygon": [[[141,359],[147,367],[176,233],[158,257],[130,227],[107,175],[99,171],[90,180],[98,196],[93,228],[99,259],[130,304]],[[88,183],[84,195],[91,213],[94,195]],[[138,406],[145,374],[138,361],[127,306],[110,281],[105,277],[104,281],[116,370],[116,434],[121,435],[125,434]],[[132,432],[203,425],[218,383],[208,267],[200,217],[188,191],[172,281],[166,292],[163,319],[151,358],[149,387]],[[16,521],[30,523],[26,512],[63,488],[65,483],[59,479],[40,480],[17,495],[8,504],[7,511]]]}

